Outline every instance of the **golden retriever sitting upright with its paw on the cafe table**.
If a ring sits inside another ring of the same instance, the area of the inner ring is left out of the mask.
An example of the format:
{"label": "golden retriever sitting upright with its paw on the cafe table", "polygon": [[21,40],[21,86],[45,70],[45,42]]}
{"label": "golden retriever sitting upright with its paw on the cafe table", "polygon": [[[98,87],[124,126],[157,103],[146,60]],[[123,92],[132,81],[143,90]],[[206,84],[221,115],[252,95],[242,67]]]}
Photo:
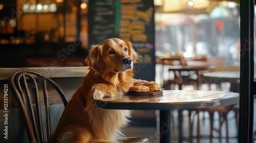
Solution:
{"label": "golden retriever sitting upright with its paw on the cafe table", "polygon": [[66,106],[49,142],[120,142],[121,128],[129,124],[130,110],[94,105],[104,97],[122,96],[137,83],[133,64],[139,58],[130,41],[106,39],[93,45],[85,62],[90,71]]}

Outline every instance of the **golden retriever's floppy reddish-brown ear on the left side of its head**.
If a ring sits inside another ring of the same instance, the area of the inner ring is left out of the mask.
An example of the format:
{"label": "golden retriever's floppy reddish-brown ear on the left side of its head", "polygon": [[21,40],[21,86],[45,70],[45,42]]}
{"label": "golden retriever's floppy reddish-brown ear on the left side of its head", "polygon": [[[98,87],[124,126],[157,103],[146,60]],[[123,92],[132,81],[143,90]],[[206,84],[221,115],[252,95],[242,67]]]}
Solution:
{"label": "golden retriever's floppy reddish-brown ear on the left side of its head", "polygon": [[93,45],[88,57],[85,60],[86,65],[90,66],[96,74],[105,70],[106,64],[102,57],[101,45]]}

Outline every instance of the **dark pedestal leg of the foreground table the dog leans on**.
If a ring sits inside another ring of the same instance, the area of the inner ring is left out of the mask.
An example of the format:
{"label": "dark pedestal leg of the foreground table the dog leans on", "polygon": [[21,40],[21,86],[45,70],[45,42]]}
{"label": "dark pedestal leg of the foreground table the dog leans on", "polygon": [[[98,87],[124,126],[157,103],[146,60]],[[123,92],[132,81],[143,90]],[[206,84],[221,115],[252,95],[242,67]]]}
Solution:
{"label": "dark pedestal leg of the foreground table the dog leans on", "polygon": [[160,143],[170,143],[172,138],[171,133],[171,113],[170,110],[160,110]]}

